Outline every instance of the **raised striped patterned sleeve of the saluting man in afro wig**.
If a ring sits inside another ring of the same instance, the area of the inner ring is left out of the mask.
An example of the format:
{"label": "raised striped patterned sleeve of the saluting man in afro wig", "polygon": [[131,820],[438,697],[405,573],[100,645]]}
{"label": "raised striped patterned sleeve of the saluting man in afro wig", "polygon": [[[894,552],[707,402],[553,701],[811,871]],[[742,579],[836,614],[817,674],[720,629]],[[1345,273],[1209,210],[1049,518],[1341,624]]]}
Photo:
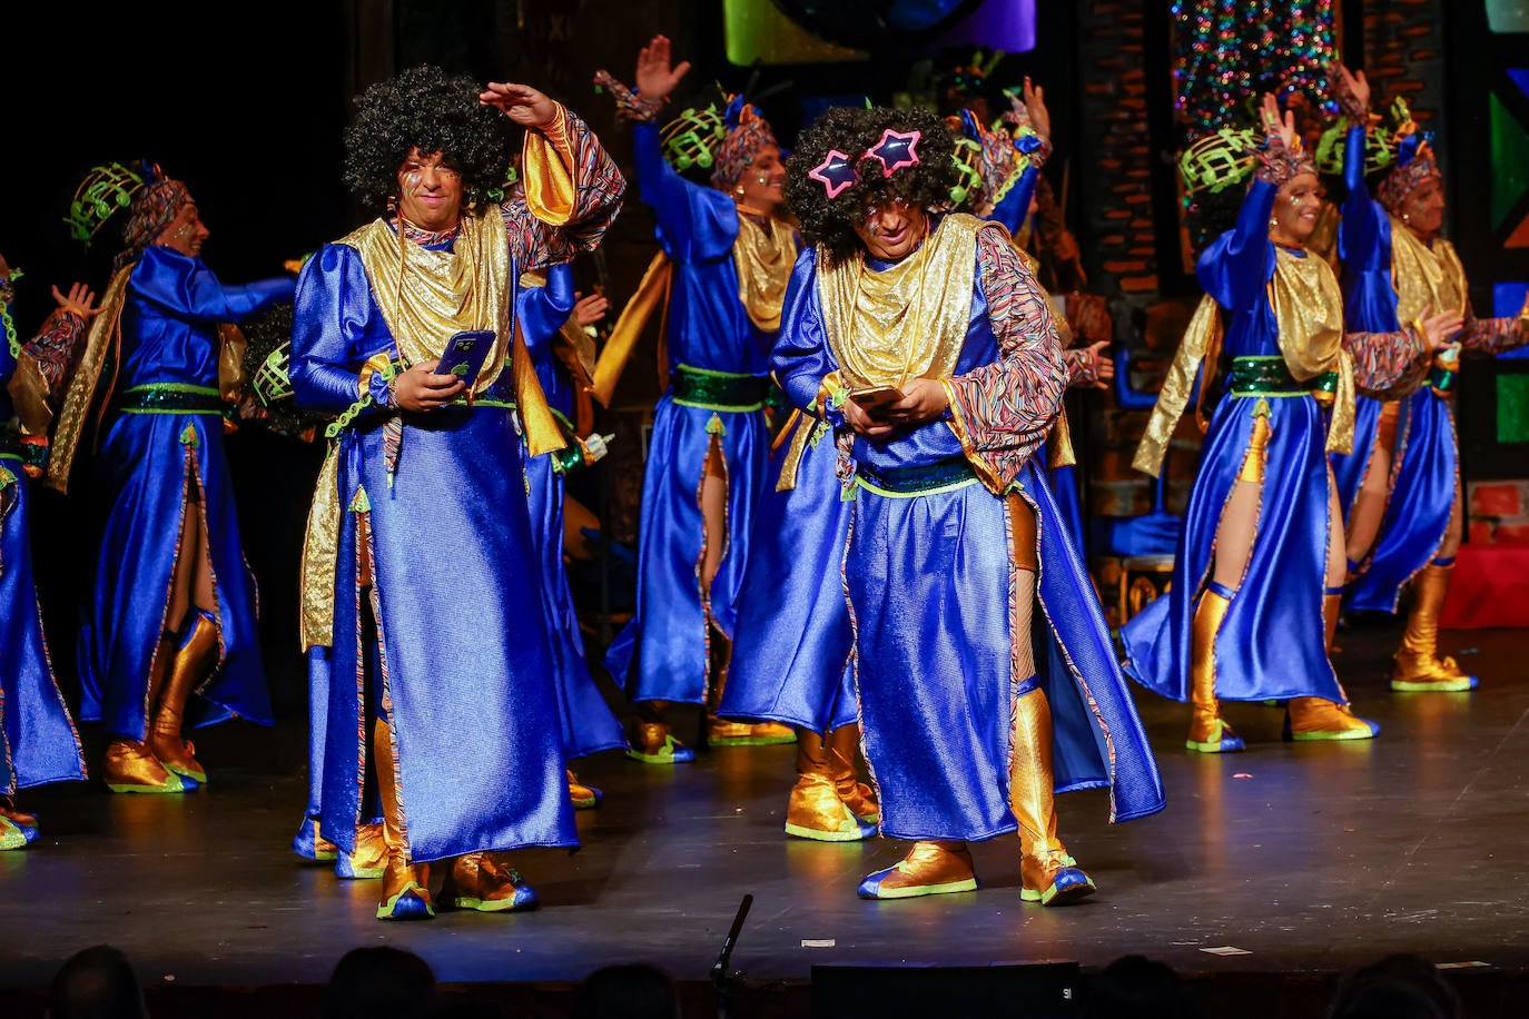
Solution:
{"label": "raised striped patterned sleeve of the saluting man in afro wig", "polygon": [[[509,254],[523,270],[572,261],[578,252],[598,247],[621,212],[621,199],[627,191],[627,179],[610,153],[572,110],[563,110],[560,134],[567,142],[578,191],[569,223],[549,226],[538,220],[520,188],[500,205],[509,232]],[[563,148],[563,144],[558,142],[558,147]]]}

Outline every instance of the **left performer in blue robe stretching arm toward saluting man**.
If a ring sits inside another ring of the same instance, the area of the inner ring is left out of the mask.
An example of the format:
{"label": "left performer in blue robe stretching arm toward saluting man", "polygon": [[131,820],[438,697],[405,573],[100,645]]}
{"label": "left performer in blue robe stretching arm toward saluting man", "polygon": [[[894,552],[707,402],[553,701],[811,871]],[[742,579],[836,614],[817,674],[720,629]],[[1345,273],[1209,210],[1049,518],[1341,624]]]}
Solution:
{"label": "left performer in blue robe stretching arm toward saluting man", "polygon": [[[110,364],[95,467],[112,509],[80,642],[80,715],[110,736],[107,787],[180,793],[206,782],[183,723],[272,721],[223,452],[225,412],[243,388],[243,336],[226,327],[291,298],[294,280],[220,283],[200,258],[209,231],[196,202],[157,167],[130,215],[47,480],[66,490]],[[187,718],[193,691],[200,707]]]}

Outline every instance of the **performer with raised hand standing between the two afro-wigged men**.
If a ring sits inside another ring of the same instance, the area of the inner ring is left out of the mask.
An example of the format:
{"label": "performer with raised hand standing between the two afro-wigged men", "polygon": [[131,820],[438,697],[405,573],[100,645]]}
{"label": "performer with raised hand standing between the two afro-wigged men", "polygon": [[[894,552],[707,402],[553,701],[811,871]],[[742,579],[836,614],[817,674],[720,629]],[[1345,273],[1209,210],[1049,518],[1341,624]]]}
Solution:
{"label": "performer with raised hand standing between the two afro-wigged men", "polygon": [[777,723],[716,715],[768,471],[769,350],[797,252],[777,215],[784,165],[769,124],[737,98],[725,137],[693,154],[703,153],[713,186],[665,160],[654,118],[688,67],[671,67],[670,41],[657,35],[638,55],[636,93],[601,76],[635,124],[638,183],[657,218],[668,277],[670,383],[653,411],[642,481],[638,607],[605,654],[638,706],[631,756],[647,764],[694,758],[670,732],[670,701],[706,706],[711,746],[794,738]]}

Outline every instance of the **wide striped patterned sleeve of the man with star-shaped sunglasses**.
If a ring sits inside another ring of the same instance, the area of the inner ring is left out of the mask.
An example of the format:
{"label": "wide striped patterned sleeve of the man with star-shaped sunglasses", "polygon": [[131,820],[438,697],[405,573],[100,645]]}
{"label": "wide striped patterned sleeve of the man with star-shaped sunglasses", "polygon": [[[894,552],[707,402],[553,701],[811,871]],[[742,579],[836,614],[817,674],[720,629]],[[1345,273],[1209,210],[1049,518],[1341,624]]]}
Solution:
{"label": "wide striped patterned sleeve of the man with star-shaped sunglasses", "polygon": [[1044,292],[1000,229],[977,235],[977,273],[998,361],[946,382],[951,428],[977,475],[1008,492],[1044,442],[1067,388],[1067,364]]}

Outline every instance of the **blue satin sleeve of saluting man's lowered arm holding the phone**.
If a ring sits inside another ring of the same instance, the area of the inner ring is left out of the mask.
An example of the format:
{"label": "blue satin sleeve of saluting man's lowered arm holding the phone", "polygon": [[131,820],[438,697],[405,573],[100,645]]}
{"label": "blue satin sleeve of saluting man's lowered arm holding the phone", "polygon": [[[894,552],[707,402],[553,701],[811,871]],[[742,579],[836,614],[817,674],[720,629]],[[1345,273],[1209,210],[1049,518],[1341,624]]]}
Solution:
{"label": "blue satin sleeve of saluting man's lowered arm holding the phone", "polygon": [[[292,307],[292,393],[298,406],[336,414],[359,394],[359,368],[391,345],[372,302],[361,255],[324,244],[307,260]],[[372,376],[381,382],[379,376]]]}

